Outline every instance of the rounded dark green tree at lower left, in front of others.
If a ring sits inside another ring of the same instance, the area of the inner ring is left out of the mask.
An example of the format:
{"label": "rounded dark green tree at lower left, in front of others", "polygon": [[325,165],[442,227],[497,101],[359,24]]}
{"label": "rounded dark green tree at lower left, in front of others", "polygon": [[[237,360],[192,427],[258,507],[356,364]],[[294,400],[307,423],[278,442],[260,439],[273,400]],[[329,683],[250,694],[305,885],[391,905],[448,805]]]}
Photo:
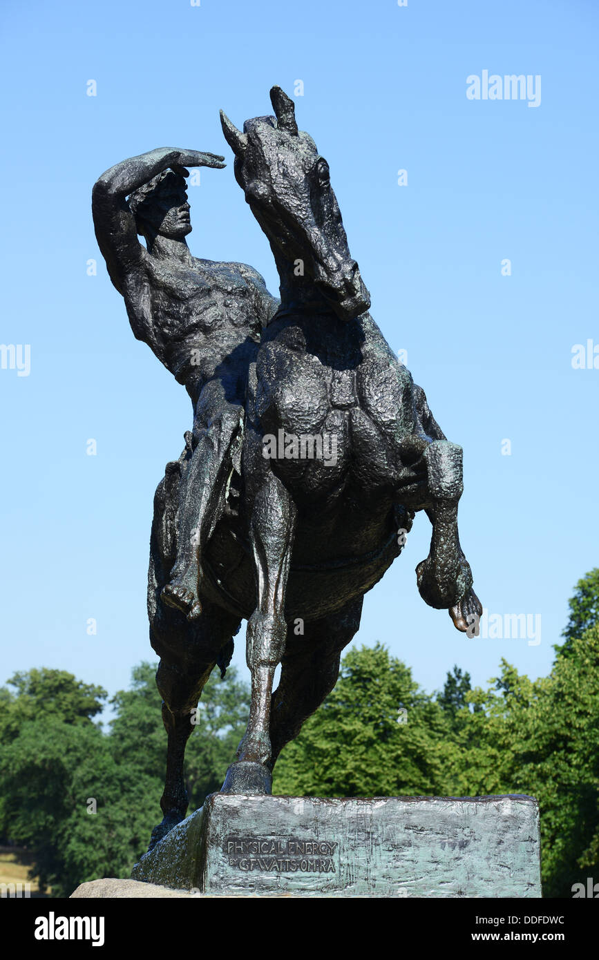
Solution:
{"label": "rounded dark green tree at lower left, in front of others", "polygon": [[33,875],[53,896],[84,880],[130,876],[147,848],[160,783],[117,763],[99,727],[51,716],[27,721],[0,756],[2,818],[35,853]]}

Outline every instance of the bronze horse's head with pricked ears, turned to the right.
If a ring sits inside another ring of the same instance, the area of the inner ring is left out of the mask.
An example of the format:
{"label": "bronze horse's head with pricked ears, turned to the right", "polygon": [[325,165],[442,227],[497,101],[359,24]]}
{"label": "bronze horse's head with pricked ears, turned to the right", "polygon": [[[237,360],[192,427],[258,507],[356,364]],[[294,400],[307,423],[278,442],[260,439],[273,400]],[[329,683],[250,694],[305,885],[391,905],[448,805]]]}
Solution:
{"label": "bronze horse's head with pricked ears, turned to the right", "polygon": [[306,276],[338,317],[351,320],[369,309],[371,298],[347,247],[328,163],[298,130],[294,103],[279,86],[271,102],[276,115],[246,120],[243,133],[221,110],[235,179],[277,265],[295,265],[296,276]]}

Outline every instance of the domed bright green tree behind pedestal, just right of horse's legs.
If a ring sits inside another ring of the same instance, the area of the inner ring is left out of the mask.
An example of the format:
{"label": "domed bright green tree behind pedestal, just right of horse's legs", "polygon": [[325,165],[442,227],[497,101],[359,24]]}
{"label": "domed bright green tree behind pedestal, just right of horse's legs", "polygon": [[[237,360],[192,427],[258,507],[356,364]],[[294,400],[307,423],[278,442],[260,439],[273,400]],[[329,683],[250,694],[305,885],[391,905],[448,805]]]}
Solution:
{"label": "domed bright green tree behind pedestal, just right of horse's legs", "polygon": [[351,650],[333,691],[283,750],[274,789],[322,797],[448,793],[448,736],[443,708],[409,667],[378,643]]}

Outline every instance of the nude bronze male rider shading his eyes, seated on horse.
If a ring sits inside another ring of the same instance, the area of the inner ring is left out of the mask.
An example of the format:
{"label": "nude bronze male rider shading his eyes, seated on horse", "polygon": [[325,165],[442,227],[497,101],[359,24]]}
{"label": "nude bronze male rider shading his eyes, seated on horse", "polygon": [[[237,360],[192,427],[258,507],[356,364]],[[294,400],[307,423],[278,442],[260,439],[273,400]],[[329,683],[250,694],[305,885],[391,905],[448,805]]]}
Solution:
{"label": "nude bronze male rider shading his eyes, seated on horse", "polygon": [[202,612],[202,551],[220,516],[230,450],[243,429],[248,367],[278,306],[252,267],[199,259],[187,247],[185,168],[220,169],[222,161],[161,147],[110,167],[92,194],[98,244],[133,334],[184,385],[194,406],[179,553],[162,590],[164,601],[188,619]]}

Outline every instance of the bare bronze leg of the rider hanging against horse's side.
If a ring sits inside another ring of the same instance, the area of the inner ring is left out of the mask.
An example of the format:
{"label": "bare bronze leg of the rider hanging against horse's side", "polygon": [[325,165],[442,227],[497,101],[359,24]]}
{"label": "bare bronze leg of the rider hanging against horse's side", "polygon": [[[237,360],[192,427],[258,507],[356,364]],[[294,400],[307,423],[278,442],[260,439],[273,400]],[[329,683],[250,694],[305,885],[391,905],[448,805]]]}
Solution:
{"label": "bare bronze leg of the rider hanging against horse's side", "polygon": [[202,554],[222,516],[231,447],[240,442],[243,413],[241,405],[228,402],[220,380],[206,384],[196,408],[194,450],[180,490],[177,561],[161,594],[189,620],[202,612],[198,596]]}

